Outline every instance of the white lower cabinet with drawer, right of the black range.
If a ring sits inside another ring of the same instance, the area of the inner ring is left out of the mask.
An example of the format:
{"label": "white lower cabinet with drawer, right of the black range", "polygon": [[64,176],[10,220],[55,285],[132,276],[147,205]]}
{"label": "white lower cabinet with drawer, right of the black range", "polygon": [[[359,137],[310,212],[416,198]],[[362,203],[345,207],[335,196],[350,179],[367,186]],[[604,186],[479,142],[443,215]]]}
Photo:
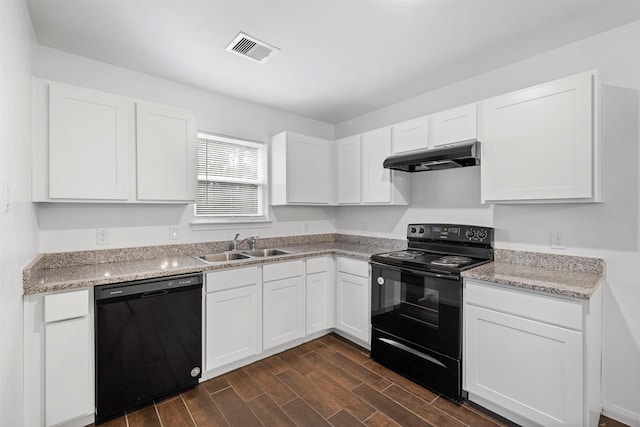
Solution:
{"label": "white lower cabinet with drawer, right of the black range", "polygon": [[522,425],[597,425],[599,294],[570,300],[467,280],[464,295],[469,400]]}

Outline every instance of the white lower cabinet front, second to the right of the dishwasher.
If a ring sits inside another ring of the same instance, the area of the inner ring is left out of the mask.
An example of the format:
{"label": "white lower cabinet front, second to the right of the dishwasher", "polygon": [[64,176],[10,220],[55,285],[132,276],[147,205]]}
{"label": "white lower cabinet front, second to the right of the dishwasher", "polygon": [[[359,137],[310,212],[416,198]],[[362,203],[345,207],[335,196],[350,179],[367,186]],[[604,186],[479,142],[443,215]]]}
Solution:
{"label": "white lower cabinet front, second to the right of the dishwasher", "polygon": [[304,336],[304,261],[265,264],[262,270],[262,346]]}

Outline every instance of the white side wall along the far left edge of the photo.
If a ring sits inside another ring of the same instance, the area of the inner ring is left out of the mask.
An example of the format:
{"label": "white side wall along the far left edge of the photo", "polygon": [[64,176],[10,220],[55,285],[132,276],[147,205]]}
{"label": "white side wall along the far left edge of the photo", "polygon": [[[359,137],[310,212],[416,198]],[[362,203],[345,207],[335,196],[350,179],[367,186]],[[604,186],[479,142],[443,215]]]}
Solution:
{"label": "white side wall along the far left edge of the photo", "polygon": [[[0,425],[23,424],[22,268],[37,252],[31,199],[31,53],[24,1],[0,2]],[[2,194],[2,191],[0,191]],[[0,196],[1,199],[2,196]]]}

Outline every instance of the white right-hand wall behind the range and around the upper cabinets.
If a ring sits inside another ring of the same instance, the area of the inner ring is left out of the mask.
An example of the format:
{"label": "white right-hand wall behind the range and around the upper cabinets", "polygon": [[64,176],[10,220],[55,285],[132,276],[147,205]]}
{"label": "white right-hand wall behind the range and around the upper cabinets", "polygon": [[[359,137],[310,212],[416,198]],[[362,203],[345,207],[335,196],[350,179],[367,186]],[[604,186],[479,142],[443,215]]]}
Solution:
{"label": "white right-hand wall behind the range and around the upper cabinets", "polygon": [[483,206],[479,168],[421,172],[411,178],[411,207],[339,208],[336,229],[362,233],[368,221],[368,233],[400,238],[412,221],[462,221],[493,225],[497,247],[540,252],[552,252],[551,230],[564,230],[559,253],[606,260],[604,407],[640,425],[640,22],[340,123],[336,137],[592,69],[604,83],[605,203]]}

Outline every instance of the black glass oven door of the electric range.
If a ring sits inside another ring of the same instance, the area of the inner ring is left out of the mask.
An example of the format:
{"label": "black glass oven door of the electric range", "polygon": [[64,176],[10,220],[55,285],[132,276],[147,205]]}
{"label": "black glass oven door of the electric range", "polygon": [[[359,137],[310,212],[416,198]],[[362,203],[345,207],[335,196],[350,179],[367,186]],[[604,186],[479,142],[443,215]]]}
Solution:
{"label": "black glass oven door of the electric range", "polygon": [[371,262],[371,326],[461,358],[462,280]]}

